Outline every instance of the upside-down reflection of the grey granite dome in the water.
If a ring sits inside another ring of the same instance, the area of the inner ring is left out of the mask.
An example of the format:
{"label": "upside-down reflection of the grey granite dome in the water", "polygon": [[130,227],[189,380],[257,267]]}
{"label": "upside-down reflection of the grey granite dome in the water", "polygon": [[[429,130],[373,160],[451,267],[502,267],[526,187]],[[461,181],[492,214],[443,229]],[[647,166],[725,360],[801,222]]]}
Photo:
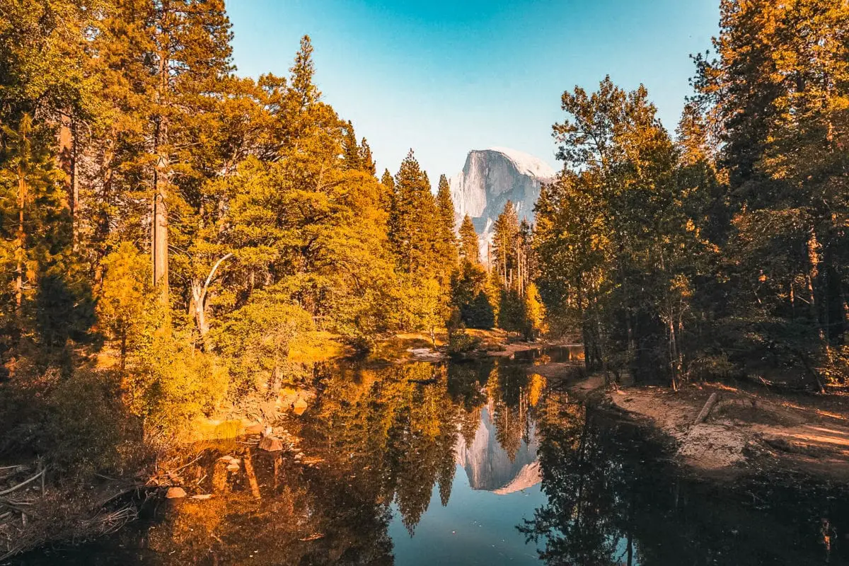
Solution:
{"label": "upside-down reflection of the grey granite dome in the water", "polygon": [[475,431],[475,439],[470,445],[466,445],[460,436],[454,449],[454,457],[464,468],[473,490],[507,495],[537,485],[542,480],[537,461],[537,435],[533,428],[530,440],[529,444],[521,441],[513,462],[510,462],[507,451],[504,451],[495,437],[495,424],[492,423],[489,410],[484,408],[481,411],[481,423]]}

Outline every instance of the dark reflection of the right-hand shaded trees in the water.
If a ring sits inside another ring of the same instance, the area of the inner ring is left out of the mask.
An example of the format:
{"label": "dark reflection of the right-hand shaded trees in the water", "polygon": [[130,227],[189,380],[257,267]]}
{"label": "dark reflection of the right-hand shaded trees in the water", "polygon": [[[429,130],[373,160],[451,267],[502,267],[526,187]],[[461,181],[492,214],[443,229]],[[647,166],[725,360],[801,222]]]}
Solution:
{"label": "dark reflection of the right-hand shaded trees in the water", "polygon": [[[707,566],[849,563],[823,544],[849,533],[845,488],[796,476],[688,477],[647,431],[549,392],[537,422],[548,504],[517,528],[550,564]],[[837,527],[837,524],[840,527]]]}

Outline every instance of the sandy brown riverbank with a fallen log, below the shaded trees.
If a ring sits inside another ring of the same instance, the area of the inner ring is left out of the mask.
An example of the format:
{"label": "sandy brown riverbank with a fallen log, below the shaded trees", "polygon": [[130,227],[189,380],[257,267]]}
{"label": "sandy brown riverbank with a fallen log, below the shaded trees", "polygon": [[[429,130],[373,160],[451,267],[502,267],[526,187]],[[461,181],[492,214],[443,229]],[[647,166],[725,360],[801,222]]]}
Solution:
{"label": "sandy brown riverbank with a fallen log, below the shaded trees", "polygon": [[[567,364],[534,371],[569,378]],[[665,387],[605,387],[599,376],[571,382],[581,397],[594,396],[629,417],[650,423],[672,439],[675,458],[703,476],[805,474],[849,480],[849,395],[784,394],[766,387],[685,384]],[[697,417],[716,395],[704,419]]]}

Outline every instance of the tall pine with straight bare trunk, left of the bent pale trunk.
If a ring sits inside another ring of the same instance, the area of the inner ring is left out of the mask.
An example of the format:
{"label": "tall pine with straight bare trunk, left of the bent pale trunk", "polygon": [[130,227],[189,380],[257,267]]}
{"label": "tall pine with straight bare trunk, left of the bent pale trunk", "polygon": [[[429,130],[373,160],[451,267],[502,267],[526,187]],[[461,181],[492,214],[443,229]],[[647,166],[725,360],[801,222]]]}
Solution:
{"label": "tall pine with straight bare trunk, left of the bent pale trunk", "polygon": [[167,304],[169,217],[192,204],[196,177],[210,157],[199,155],[207,148],[198,138],[216,120],[216,94],[233,70],[230,23],[222,0],[133,0],[117,5],[101,31],[96,41],[108,97],[124,106],[143,136],[138,168],[152,188],[153,280]]}

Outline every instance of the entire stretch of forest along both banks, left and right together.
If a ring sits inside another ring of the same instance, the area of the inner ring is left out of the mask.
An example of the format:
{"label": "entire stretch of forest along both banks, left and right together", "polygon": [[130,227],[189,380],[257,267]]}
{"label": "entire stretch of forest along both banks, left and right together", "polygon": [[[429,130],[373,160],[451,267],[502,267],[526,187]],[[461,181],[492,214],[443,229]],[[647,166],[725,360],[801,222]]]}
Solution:
{"label": "entire stretch of forest along both banks, left and right together", "polygon": [[849,375],[844,0],[722,0],[674,136],[645,87],[564,92],[562,171],[489,261],[412,150],[379,176],[309,37],[255,80],[223,0],[0,16],[0,455],[133,469],[402,332],[576,338],[611,383]]}

